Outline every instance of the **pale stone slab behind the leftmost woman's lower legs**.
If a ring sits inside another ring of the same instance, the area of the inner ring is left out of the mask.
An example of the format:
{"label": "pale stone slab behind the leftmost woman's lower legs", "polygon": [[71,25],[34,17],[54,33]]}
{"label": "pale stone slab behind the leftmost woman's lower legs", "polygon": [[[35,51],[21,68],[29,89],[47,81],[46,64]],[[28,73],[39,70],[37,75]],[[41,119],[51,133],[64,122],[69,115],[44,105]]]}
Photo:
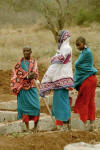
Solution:
{"label": "pale stone slab behind the leftmost woman's lower legs", "polygon": [[[29,122],[29,128],[34,128],[34,121]],[[41,113],[38,123],[38,131],[50,131],[55,128],[54,121],[47,114]],[[26,130],[25,124],[21,120],[14,122],[0,123],[0,135],[13,134]]]}

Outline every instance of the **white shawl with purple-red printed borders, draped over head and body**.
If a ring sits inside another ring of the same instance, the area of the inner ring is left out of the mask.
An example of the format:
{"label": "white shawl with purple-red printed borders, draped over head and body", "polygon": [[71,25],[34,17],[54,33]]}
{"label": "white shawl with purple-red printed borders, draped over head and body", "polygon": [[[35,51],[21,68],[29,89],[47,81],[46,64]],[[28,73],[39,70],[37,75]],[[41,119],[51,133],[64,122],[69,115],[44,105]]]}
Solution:
{"label": "white shawl with purple-red printed borders, draped over head and body", "polygon": [[40,96],[50,93],[52,89],[73,87],[72,48],[69,33],[63,31],[60,37],[60,49],[51,58],[51,65],[46,71],[40,85]]}

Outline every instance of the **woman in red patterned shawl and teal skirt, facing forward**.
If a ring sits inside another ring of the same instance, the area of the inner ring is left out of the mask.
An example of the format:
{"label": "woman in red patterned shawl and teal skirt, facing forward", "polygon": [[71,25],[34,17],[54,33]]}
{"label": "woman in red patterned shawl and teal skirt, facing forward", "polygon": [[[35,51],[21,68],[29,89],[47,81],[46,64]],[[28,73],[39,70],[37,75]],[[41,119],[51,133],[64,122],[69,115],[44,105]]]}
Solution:
{"label": "woman in red patterned shawl and teal skirt, facing forward", "polygon": [[29,131],[29,121],[34,121],[34,131],[40,116],[40,103],[34,80],[38,80],[36,60],[31,57],[31,47],[23,48],[24,57],[15,65],[11,78],[11,90],[17,95],[18,119],[23,120]]}

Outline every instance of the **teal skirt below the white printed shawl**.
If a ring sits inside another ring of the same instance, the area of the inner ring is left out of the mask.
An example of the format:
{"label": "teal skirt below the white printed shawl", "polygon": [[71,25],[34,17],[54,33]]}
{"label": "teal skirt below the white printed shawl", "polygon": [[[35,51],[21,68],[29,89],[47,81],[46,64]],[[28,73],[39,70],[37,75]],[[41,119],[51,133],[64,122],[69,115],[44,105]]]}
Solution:
{"label": "teal skirt below the white printed shawl", "polygon": [[59,121],[68,121],[68,119],[71,118],[68,90],[54,90],[52,116],[55,116],[56,120]]}

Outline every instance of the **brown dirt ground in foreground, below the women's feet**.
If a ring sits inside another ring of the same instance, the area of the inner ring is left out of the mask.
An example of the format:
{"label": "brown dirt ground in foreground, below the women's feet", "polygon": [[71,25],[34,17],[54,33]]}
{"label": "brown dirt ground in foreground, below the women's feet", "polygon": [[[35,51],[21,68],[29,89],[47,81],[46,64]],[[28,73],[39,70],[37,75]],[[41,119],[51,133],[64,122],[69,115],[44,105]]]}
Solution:
{"label": "brown dirt ground in foreground, below the women's feet", "polygon": [[100,132],[66,131],[19,136],[0,136],[0,150],[63,150],[69,143],[100,142]]}

